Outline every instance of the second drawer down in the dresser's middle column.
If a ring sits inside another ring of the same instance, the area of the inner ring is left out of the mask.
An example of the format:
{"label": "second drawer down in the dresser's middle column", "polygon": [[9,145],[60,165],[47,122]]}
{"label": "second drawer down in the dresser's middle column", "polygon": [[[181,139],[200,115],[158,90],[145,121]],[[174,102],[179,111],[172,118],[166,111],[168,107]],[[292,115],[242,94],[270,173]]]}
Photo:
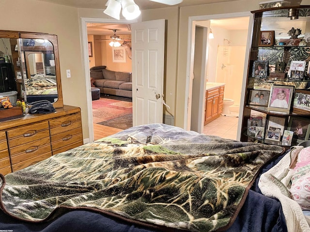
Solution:
{"label": "second drawer down in the dresser's middle column", "polygon": [[13,161],[13,157],[16,155],[23,155],[24,157],[33,157],[46,152],[50,152],[50,139],[42,138],[40,140],[32,141],[30,143],[22,144],[19,146],[15,146],[10,148],[11,151],[11,159]]}

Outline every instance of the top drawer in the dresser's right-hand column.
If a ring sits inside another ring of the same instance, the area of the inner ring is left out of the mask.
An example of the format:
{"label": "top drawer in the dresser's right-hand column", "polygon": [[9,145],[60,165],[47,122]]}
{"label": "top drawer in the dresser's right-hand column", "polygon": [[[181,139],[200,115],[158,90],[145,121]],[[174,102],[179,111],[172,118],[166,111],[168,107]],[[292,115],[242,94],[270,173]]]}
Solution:
{"label": "top drawer in the dresser's right-hand column", "polygon": [[66,117],[60,117],[49,121],[50,134],[55,135],[65,131],[80,128],[82,130],[82,122],[79,114]]}

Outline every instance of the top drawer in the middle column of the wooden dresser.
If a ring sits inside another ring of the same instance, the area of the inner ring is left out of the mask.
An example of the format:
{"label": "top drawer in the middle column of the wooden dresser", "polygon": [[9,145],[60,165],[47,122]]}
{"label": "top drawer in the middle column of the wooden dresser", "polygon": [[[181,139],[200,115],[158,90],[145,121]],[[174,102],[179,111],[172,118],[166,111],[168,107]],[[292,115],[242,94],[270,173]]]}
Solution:
{"label": "top drawer in the middle column of the wooden dresser", "polygon": [[44,130],[48,130],[47,121],[36,123],[36,124],[31,124],[31,125],[27,125],[23,127],[18,127],[16,129],[7,131],[7,133],[8,133],[8,139],[10,140],[16,137],[26,138],[26,137],[35,136],[38,131],[44,131]]}

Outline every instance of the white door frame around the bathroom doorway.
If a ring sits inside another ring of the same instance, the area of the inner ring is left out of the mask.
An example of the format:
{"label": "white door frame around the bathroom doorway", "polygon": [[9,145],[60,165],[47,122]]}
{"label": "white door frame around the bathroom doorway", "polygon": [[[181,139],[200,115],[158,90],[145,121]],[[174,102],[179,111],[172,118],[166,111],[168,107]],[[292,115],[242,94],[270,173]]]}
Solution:
{"label": "white door frame around the bathroom doorway", "polygon": [[[247,48],[246,48],[246,59],[244,69],[248,69],[248,60],[249,60],[249,52],[250,52],[250,42],[251,35],[253,30],[253,20],[254,16],[250,12],[239,12],[239,13],[228,13],[228,14],[212,14],[212,15],[198,15],[198,16],[190,16],[188,18],[188,37],[187,37],[187,63],[186,63],[186,87],[185,87],[185,108],[184,108],[184,125],[185,130],[190,130],[190,116],[191,116],[191,107],[190,103],[192,101],[192,73],[193,73],[193,52],[195,49],[195,30],[194,27],[196,25],[195,21],[208,21],[211,19],[226,19],[226,18],[236,18],[236,17],[249,17],[248,24],[248,40],[247,40]],[[241,88],[241,96],[245,95],[246,90],[246,80],[247,80],[247,72],[244,72],[242,88]],[[202,82],[203,83],[203,82]],[[241,132],[241,122],[242,117],[240,116],[240,112],[243,112],[244,106],[244,98],[241,99],[240,102],[240,111],[239,111],[239,119],[238,119],[238,130],[237,130],[237,140],[240,139]],[[199,121],[199,127],[203,127],[203,121]]]}

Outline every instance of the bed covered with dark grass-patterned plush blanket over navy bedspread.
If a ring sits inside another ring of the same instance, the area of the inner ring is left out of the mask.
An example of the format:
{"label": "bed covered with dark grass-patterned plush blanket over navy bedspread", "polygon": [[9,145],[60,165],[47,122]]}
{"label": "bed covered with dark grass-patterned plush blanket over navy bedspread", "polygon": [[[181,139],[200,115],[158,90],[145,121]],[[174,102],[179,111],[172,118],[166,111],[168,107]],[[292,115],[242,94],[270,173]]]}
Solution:
{"label": "bed covered with dark grass-patterned plush blanket over navy bedspread", "polygon": [[0,175],[0,230],[286,232],[280,201],[258,184],[287,154],[165,124],[132,127]]}

